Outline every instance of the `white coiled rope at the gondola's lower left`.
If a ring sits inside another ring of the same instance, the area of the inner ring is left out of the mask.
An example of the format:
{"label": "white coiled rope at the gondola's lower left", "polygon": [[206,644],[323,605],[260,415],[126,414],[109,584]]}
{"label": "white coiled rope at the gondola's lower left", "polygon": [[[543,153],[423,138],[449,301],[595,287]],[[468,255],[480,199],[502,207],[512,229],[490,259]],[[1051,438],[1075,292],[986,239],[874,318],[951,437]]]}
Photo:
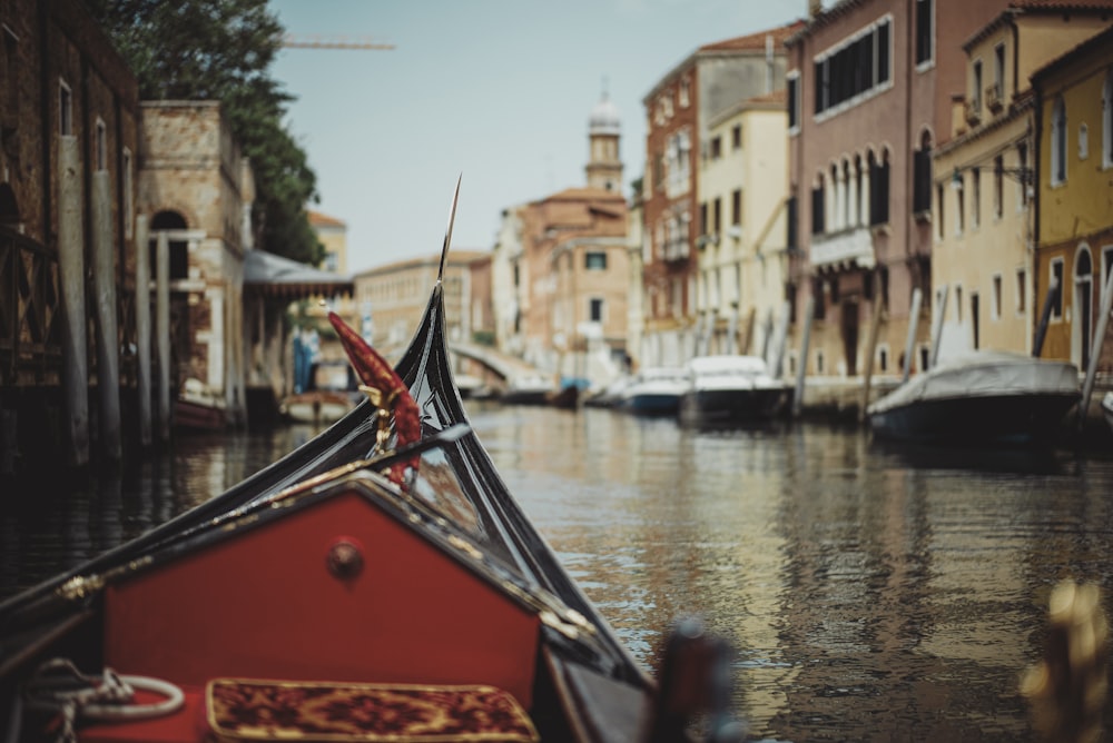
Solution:
{"label": "white coiled rope at the gondola's lower left", "polygon": [[[136,704],[136,690],[165,699]],[[111,668],[105,668],[100,676],[86,675],[65,658],[53,658],[40,665],[24,684],[23,695],[28,709],[57,712],[61,716],[57,740],[62,743],[77,741],[73,725],[79,719],[148,720],[177,712],[185,703],[181,690],[169,682],[120,675]]]}

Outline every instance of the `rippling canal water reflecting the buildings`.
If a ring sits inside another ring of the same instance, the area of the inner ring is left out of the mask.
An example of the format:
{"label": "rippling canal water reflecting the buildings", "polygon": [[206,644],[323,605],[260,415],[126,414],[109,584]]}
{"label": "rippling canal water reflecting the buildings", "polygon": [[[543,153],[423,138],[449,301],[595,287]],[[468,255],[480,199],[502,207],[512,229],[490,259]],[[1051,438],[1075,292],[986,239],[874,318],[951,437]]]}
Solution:
{"label": "rippling canal water reflecting the buildings", "polygon": [[[682,616],[729,641],[750,740],[1034,740],[1018,678],[1038,661],[1052,586],[1095,583],[1113,608],[1113,446],[905,448],[816,424],[700,433],[467,405],[511,492],[640,662],[656,668]],[[9,494],[0,595],[312,435],[183,438],[120,478]]]}

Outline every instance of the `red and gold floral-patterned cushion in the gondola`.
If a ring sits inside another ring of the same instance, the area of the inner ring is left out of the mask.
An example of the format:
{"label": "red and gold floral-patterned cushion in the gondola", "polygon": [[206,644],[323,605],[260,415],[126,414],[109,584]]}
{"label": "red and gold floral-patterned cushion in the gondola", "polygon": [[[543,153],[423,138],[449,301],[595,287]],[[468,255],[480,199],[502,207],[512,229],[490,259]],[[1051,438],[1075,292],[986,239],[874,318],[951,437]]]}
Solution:
{"label": "red and gold floral-patterned cushion in the gondola", "polygon": [[529,715],[494,686],[217,678],[205,692],[220,741],[538,741]]}

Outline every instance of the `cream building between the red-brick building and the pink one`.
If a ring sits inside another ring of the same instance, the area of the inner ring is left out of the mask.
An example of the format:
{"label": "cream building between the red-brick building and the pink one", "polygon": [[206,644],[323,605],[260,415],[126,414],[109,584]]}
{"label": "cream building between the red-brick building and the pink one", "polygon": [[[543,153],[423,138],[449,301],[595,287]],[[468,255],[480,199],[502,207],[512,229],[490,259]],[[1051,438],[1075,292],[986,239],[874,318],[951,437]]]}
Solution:
{"label": "cream building between the red-brick building and the pink one", "polygon": [[697,181],[700,353],[765,356],[787,319],[786,100],[781,89],[710,121]]}

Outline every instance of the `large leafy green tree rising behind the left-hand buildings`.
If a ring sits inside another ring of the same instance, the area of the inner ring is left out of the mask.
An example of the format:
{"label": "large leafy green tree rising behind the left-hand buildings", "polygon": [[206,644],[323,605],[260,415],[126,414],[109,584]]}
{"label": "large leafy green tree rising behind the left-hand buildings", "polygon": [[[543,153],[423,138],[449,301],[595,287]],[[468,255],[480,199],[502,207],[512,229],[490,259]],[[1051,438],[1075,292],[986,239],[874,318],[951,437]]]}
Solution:
{"label": "large leafy green tree rising behind the left-hand buildings", "polygon": [[255,171],[260,247],[316,264],[305,205],[317,178],[282,123],[293,97],[269,77],[284,29],[266,0],[87,0],[145,100],[218,100]]}

